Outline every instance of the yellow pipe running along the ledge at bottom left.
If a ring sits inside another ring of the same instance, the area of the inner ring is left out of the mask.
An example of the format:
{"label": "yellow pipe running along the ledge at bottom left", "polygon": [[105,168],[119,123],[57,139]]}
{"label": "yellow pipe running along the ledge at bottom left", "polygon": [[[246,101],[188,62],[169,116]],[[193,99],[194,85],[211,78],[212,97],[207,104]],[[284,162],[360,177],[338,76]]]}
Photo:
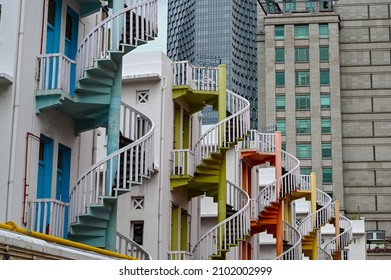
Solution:
{"label": "yellow pipe running along the ledge at bottom left", "polygon": [[27,231],[24,228],[19,228],[16,225],[16,223],[14,223],[12,221],[8,221],[5,224],[4,223],[0,223],[0,228],[6,229],[6,230],[9,230],[9,231],[22,233],[24,235],[28,235],[28,236],[31,236],[31,237],[39,238],[39,239],[42,239],[42,240],[45,240],[45,241],[48,241],[48,242],[53,242],[53,243],[57,243],[57,244],[64,245],[64,246],[70,246],[70,247],[78,248],[78,249],[81,249],[81,250],[92,251],[92,252],[95,252],[95,253],[98,253],[98,254],[102,254],[102,255],[106,255],[106,256],[110,256],[110,257],[116,257],[116,258],[121,258],[121,259],[129,259],[129,260],[138,260],[137,258],[134,258],[134,257],[131,257],[131,256],[119,254],[119,253],[116,253],[116,252],[108,251],[108,250],[105,250],[105,249],[97,248],[97,247],[86,245],[86,244],[83,244],[83,243],[70,241],[70,240],[67,240],[67,239],[59,238],[59,237],[48,235],[48,234],[43,234],[43,233],[36,232],[36,231]]}

